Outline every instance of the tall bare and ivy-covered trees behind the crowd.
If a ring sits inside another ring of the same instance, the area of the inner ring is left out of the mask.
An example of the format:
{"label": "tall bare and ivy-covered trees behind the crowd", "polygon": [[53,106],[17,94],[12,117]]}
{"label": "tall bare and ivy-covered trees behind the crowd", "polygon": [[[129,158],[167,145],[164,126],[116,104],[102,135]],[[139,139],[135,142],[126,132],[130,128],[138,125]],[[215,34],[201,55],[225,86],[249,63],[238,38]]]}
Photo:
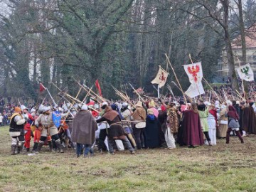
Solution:
{"label": "tall bare and ivy-covered trees behind the crowd", "polygon": [[[189,83],[182,65],[190,63],[189,53],[213,82],[225,49],[235,79],[231,41],[241,35],[245,63],[243,40],[255,13],[255,0],[1,1],[1,96],[36,100],[40,82],[50,92],[57,92],[54,82],[75,95],[72,77],[87,86],[98,79],[104,97],[114,97],[111,85],[129,91],[129,82],[153,92],[158,65],[166,68],[164,53],[184,89]],[[168,82],[174,80],[170,74]]]}

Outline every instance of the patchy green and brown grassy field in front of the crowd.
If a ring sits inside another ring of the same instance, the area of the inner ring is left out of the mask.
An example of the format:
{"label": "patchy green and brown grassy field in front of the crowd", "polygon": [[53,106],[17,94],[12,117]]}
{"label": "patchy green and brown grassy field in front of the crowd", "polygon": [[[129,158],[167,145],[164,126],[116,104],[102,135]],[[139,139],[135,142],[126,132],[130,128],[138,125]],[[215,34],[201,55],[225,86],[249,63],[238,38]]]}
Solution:
{"label": "patchy green and brown grassy field in front of the crowd", "polygon": [[11,156],[0,128],[0,191],[256,191],[256,137],[245,144],[149,149],[76,158],[75,151]]}

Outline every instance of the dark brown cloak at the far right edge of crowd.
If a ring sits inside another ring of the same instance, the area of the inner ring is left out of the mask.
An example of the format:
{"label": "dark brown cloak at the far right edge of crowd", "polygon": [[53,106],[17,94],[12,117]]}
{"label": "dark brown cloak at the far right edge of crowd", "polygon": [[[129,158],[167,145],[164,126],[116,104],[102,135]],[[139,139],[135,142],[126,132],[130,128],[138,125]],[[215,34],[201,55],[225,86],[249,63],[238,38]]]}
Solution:
{"label": "dark brown cloak at the far right edge of crowd", "polygon": [[256,115],[251,106],[243,110],[242,129],[249,134],[256,134]]}

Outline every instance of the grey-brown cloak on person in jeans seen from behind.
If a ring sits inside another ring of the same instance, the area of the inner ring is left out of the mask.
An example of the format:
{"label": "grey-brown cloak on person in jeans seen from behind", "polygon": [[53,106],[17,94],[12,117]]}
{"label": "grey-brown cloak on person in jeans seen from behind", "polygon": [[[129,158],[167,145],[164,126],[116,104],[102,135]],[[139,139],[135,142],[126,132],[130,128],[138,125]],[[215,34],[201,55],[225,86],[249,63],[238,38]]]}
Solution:
{"label": "grey-brown cloak on person in jeans seen from behind", "polygon": [[79,144],[93,144],[97,123],[89,111],[80,110],[73,119],[71,139]]}

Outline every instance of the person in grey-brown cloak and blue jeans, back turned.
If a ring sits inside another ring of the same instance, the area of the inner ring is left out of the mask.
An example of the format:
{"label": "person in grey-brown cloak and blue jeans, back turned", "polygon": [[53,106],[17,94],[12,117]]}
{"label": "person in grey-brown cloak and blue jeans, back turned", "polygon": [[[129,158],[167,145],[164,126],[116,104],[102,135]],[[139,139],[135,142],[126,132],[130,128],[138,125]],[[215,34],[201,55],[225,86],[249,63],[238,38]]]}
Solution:
{"label": "person in grey-brown cloak and blue jeans, back turned", "polygon": [[85,146],[84,157],[93,155],[92,144],[95,142],[95,132],[97,131],[97,123],[95,118],[88,111],[87,105],[82,105],[81,110],[75,114],[72,125],[71,140],[76,142],[76,154],[80,156],[82,146]]}

